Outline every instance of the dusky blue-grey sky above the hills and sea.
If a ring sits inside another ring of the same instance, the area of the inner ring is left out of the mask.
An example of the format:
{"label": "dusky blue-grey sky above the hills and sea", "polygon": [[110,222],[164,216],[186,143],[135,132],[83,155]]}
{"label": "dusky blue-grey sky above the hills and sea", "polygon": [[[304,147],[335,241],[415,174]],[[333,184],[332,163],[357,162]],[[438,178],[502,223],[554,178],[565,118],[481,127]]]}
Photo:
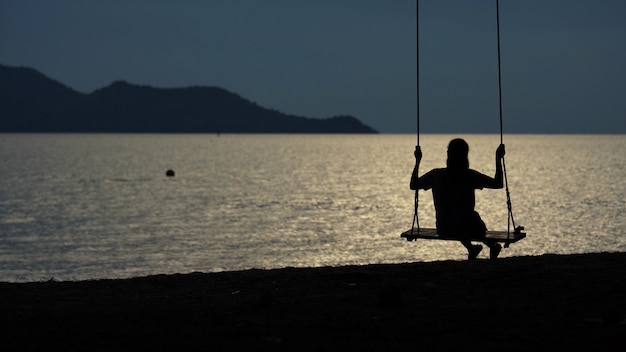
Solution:
{"label": "dusky blue-grey sky above the hills and sea", "polygon": [[[626,1],[499,7],[503,133],[626,133]],[[382,133],[417,132],[419,91],[421,133],[499,133],[496,19],[495,0],[0,0],[0,64]]]}

